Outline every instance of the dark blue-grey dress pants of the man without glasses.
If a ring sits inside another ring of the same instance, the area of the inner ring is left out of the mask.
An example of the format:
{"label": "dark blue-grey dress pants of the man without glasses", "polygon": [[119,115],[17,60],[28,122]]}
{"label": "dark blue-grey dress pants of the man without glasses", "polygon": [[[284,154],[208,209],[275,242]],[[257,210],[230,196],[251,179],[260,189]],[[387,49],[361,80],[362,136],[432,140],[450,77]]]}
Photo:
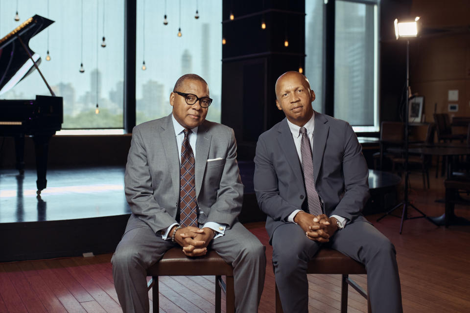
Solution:
{"label": "dark blue-grey dress pants of the man without glasses", "polygon": [[[272,238],[276,284],[284,313],[308,312],[307,264],[322,244],[308,239],[297,224],[276,228]],[[352,222],[323,244],[365,265],[372,312],[401,313],[395,247],[372,224]]]}

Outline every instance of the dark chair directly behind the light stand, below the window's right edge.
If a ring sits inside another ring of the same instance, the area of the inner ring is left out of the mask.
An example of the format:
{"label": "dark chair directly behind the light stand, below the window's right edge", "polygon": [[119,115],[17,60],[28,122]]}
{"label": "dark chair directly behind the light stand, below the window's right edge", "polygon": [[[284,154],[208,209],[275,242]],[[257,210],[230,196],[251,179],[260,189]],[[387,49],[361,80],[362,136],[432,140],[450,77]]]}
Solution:
{"label": "dark chair directly behind the light stand, below the window's right edge", "polygon": [[401,147],[404,139],[404,125],[401,122],[382,122],[380,124],[380,152],[374,154],[374,168],[383,170],[384,158],[390,159],[393,154],[387,153],[389,147]]}

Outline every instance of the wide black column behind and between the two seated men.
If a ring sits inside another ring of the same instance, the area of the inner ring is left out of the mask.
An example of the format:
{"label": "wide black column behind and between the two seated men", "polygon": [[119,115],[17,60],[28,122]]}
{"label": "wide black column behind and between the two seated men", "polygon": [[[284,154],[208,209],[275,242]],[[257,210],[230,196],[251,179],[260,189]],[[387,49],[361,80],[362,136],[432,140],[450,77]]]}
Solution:
{"label": "wide black column behind and between the two seated men", "polygon": [[305,3],[223,0],[222,21],[222,124],[235,130],[238,158],[253,159],[259,134],[284,117],[276,79],[304,68]]}

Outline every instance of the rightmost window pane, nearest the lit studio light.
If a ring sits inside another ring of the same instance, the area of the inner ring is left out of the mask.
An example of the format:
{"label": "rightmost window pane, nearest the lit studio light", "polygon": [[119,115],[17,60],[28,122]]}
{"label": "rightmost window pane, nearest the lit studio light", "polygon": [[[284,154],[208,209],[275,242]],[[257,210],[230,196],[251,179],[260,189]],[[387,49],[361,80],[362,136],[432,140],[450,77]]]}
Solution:
{"label": "rightmost window pane, nearest the lit studio light", "polygon": [[335,2],[334,116],[377,131],[377,5]]}

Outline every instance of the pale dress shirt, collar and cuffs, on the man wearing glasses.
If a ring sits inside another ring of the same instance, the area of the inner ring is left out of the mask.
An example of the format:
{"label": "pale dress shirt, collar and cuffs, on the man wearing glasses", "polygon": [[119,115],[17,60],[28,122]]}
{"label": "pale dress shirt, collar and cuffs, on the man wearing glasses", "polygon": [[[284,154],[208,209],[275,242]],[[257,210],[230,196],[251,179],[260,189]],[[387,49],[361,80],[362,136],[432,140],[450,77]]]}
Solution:
{"label": "pale dress shirt, collar and cuffs, on the man wearing glasses", "polygon": [[[183,140],[185,138],[185,134],[183,133],[183,131],[185,130],[185,128],[183,126],[181,126],[180,123],[178,123],[178,121],[175,119],[175,117],[173,115],[171,115],[171,119],[173,120],[173,128],[175,129],[176,145],[178,147],[178,155],[181,156],[181,146],[183,145]],[[194,161],[196,160],[195,151],[196,151],[197,129],[198,129],[198,127],[194,127],[193,129],[191,129],[191,133],[188,134],[189,145],[191,146],[193,154],[194,154]],[[181,166],[181,157],[179,158],[179,160],[180,160],[180,166]],[[198,210],[198,216],[204,213],[199,208],[199,206],[197,206],[197,210]],[[162,238],[164,240],[171,239],[171,237],[169,236],[169,232],[170,232],[171,228],[174,225],[178,225],[178,224],[177,223],[171,224],[168,228],[166,228],[166,231],[164,232],[164,235],[162,235]],[[219,224],[219,223],[215,223],[215,222],[206,222],[204,225],[199,224],[198,226],[199,226],[199,228],[208,227],[208,228],[211,228],[212,230],[214,230],[215,231],[214,239],[215,239],[217,237],[220,237],[220,236],[224,235],[225,227],[227,225]]]}

